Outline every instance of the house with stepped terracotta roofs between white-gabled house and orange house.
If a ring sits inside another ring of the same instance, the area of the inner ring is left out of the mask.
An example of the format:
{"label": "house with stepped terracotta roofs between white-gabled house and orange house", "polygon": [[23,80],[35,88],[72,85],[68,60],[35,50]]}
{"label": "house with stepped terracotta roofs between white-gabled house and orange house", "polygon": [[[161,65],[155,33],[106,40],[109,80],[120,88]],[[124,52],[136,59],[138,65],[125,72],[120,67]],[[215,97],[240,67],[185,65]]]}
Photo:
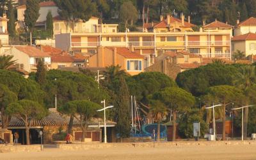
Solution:
{"label": "house with stepped terracotta roofs between white-gabled house and orange house", "polygon": [[47,45],[41,45],[40,49],[51,56],[51,69],[58,69],[61,67],[82,67],[84,65],[84,60],[76,58],[61,49]]}

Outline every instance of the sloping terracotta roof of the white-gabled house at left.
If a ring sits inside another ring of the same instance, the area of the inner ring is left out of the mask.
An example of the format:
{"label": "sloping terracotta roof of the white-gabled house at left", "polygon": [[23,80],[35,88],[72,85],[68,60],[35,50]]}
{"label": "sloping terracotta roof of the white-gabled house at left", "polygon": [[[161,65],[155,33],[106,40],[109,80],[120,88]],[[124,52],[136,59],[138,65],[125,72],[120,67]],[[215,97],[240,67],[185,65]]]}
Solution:
{"label": "sloping terracotta roof of the white-gabled house at left", "polygon": [[28,54],[28,56],[30,57],[50,57],[50,55],[46,52],[43,52],[40,49],[37,49],[36,47],[33,47],[31,45],[15,46],[15,48],[21,52],[24,52],[25,54]]}

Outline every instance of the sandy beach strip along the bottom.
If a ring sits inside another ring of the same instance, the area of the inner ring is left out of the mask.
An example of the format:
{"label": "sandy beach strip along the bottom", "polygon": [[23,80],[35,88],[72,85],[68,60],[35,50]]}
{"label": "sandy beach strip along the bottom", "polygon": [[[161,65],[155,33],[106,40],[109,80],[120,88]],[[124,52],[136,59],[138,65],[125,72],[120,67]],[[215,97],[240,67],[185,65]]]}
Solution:
{"label": "sandy beach strip along the bottom", "polygon": [[0,159],[256,159],[256,145],[118,147],[88,150],[45,148],[42,152],[2,153]]}

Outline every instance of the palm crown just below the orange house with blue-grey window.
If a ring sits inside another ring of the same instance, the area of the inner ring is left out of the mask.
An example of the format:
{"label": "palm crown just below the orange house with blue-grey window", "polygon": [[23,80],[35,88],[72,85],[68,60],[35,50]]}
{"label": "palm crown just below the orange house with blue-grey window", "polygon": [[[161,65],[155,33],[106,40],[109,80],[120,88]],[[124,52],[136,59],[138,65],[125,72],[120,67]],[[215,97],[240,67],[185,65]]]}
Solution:
{"label": "palm crown just below the orange house with blue-grey window", "polygon": [[104,77],[105,80],[109,83],[113,81],[116,77],[121,77],[121,76],[127,76],[127,73],[125,70],[121,70],[120,65],[111,65],[106,67],[106,71],[104,71]]}

